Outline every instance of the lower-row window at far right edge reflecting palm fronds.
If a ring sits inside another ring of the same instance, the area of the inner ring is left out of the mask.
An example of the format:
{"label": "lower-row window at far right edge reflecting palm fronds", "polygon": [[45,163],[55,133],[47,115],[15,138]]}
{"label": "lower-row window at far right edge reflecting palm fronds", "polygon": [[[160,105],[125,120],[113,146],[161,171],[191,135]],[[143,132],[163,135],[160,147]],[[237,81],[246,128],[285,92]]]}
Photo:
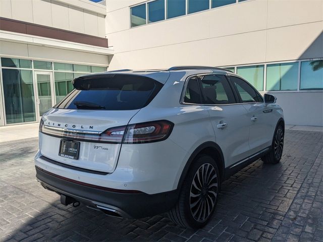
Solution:
{"label": "lower-row window at far right edge reflecting palm fronds", "polygon": [[323,60],[301,62],[300,90],[323,89]]}

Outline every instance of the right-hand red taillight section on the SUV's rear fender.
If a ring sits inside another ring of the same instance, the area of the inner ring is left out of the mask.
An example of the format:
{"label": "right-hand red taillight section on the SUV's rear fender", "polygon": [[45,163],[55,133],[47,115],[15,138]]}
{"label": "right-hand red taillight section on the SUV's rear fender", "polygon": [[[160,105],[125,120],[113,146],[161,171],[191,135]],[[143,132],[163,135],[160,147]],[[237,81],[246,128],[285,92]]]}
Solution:
{"label": "right-hand red taillight section on the SUV's rear fender", "polygon": [[140,144],[162,141],[170,136],[173,127],[174,124],[167,120],[128,125],[123,143]]}

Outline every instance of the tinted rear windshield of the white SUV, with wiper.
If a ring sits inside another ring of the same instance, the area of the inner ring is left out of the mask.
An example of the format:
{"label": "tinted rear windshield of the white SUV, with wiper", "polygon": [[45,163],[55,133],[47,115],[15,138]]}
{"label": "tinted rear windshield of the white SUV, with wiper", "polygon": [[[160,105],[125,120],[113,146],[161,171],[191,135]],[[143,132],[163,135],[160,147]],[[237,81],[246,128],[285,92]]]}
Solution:
{"label": "tinted rear windshield of the white SUV, with wiper", "polygon": [[56,108],[132,110],[142,108],[156,96],[163,84],[147,77],[110,75],[77,78],[74,90]]}

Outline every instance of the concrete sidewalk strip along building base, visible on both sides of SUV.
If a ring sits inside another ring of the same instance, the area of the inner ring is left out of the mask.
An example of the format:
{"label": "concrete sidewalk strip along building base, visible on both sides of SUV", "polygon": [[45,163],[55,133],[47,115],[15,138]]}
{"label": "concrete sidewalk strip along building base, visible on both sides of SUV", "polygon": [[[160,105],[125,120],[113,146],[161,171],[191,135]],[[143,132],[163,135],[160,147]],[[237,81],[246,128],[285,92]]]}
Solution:
{"label": "concrete sidewalk strip along building base, visible on both sides of SUV", "polygon": [[[38,127],[38,123],[0,127],[0,143],[35,138],[38,136]],[[319,126],[286,125],[285,129],[295,131],[323,132],[323,127]]]}

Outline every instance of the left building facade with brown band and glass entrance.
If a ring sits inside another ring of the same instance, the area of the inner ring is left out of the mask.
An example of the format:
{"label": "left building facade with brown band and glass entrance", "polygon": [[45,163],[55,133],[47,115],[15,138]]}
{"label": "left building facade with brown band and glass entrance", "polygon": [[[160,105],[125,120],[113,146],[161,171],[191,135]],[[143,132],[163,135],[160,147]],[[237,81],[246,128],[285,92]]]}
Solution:
{"label": "left building facade with brown band and glass entrance", "polygon": [[88,0],[0,0],[0,126],[39,122],[113,55],[106,8]]}

